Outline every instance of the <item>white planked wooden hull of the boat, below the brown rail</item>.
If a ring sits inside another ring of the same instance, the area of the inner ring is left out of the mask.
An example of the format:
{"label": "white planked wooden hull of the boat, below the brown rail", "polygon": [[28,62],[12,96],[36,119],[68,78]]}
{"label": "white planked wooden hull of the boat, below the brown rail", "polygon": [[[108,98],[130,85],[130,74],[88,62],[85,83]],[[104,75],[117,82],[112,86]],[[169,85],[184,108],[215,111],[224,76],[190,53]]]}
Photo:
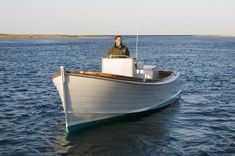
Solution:
{"label": "white planked wooden hull of the boat, below the brown rail", "polygon": [[166,106],[179,97],[179,74],[158,82],[136,82],[76,74],[53,82],[60,94],[67,132],[87,123]]}

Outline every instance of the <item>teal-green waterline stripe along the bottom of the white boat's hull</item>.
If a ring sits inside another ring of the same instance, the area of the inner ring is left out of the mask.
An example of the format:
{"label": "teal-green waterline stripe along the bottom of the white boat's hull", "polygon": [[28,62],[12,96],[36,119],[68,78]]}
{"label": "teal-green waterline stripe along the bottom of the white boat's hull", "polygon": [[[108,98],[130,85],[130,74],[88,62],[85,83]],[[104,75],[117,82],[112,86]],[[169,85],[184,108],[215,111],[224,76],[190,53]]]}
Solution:
{"label": "teal-green waterline stripe along the bottom of the white boat's hull", "polygon": [[115,121],[118,121],[118,120],[123,119],[123,118],[127,118],[127,117],[132,116],[132,115],[137,115],[137,114],[141,114],[141,113],[146,113],[148,111],[157,110],[157,109],[160,109],[160,108],[163,108],[163,107],[166,107],[166,106],[172,104],[173,102],[175,102],[179,98],[180,98],[180,92],[178,94],[176,94],[176,96],[172,97],[170,100],[164,101],[160,105],[157,105],[156,107],[153,107],[149,110],[145,110],[145,111],[137,112],[137,113],[129,113],[129,114],[124,114],[124,115],[121,115],[121,116],[111,117],[111,118],[107,118],[107,119],[101,119],[101,120],[97,120],[97,121],[90,121],[90,122],[86,122],[86,123],[81,123],[81,124],[77,124],[77,125],[68,126],[66,128],[66,132],[67,132],[67,134],[70,134],[70,133],[75,132],[75,131],[83,130],[87,127],[101,125],[101,124],[108,124],[108,123],[115,122]]}

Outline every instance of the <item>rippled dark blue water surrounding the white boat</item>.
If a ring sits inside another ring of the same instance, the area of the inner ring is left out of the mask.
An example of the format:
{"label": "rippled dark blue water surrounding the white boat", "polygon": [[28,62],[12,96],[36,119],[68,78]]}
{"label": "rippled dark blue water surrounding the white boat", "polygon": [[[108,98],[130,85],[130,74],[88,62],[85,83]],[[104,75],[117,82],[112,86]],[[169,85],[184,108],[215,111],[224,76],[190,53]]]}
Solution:
{"label": "rippled dark blue water surrounding the white boat", "polygon": [[51,75],[100,70],[112,43],[0,39],[0,155],[235,155],[235,37],[140,36],[138,60],[181,72],[181,100],[66,137]]}

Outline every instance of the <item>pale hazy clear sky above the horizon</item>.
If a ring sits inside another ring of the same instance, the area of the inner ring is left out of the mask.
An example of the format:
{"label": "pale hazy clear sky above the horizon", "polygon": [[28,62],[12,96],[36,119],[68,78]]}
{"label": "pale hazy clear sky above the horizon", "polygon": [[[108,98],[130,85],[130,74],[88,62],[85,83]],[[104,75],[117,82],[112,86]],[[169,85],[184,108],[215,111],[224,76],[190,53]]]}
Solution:
{"label": "pale hazy clear sky above the horizon", "polygon": [[235,34],[235,0],[0,0],[0,33],[135,35],[137,32]]}

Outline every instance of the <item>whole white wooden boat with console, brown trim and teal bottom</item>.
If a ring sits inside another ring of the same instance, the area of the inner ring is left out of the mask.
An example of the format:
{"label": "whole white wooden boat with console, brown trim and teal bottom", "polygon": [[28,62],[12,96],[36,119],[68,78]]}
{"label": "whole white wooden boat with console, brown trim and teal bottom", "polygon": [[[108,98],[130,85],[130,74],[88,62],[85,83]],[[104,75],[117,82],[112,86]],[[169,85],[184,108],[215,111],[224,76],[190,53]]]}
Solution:
{"label": "whole white wooden boat with console, brown trim and teal bottom", "polygon": [[68,133],[107,119],[167,106],[180,97],[179,73],[136,62],[102,58],[101,72],[53,74]]}

